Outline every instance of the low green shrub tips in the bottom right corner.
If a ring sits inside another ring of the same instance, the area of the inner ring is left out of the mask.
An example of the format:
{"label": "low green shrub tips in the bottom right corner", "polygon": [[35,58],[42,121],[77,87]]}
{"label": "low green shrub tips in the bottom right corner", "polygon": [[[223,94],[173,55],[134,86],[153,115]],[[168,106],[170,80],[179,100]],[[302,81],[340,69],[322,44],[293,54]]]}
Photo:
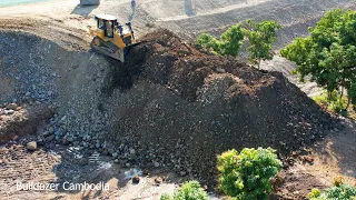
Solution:
{"label": "low green shrub tips in the bottom right corner", "polygon": [[318,189],[313,189],[308,194],[310,200],[356,200],[356,187],[348,184],[334,186],[320,192]]}

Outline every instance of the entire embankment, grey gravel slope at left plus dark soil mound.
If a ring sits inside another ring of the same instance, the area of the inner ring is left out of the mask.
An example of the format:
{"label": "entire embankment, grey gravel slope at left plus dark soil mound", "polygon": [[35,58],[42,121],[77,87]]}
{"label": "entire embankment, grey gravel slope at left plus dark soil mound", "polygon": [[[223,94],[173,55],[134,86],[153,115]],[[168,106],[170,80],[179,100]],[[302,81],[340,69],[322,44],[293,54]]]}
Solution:
{"label": "entire embankment, grey gravel slope at left plus dark soil mound", "polygon": [[208,183],[225,150],[261,146],[285,154],[334,123],[279,72],[210,56],[166,30],[141,40],[120,63],[2,32],[0,101],[56,104],[41,140],[55,134],[126,166],[167,168]]}

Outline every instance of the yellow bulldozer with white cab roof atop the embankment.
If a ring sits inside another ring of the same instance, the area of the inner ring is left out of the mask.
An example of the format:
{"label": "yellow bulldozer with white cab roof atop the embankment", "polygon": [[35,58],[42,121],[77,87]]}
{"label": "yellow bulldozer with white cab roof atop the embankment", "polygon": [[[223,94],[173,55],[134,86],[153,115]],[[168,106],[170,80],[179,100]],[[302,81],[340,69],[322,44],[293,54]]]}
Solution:
{"label": "yellow bulldozer with white cab roof atop the embankment", "polygon": [[125,62],[130,49],[140,42],[135,41],[131,22],[121,24],[116,17],[101,13],[95,17],[97,27],[89,27],[90,36],[95,37],[91,48],[105,56]]}

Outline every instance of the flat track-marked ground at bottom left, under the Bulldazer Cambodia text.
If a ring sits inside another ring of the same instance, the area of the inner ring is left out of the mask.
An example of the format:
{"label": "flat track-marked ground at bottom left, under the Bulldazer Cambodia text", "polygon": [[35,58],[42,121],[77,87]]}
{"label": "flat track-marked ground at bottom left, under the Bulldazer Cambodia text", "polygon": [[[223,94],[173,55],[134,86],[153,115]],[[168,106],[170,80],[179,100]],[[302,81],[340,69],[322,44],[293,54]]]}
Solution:
{"label": "flat track-marked ground at bottom left, under the Bulldazer Cambodia text", "polygon": [[[0,149],[0,194],[2,199],[159,199],[172,192],[181,178],[159,170],[120,166],[110,157],[50,141],[26,137]],[[137,182],[132,181],[137,178]],[[55,190],[28,189],[27,183],[53,183]],[[67,183],[66,183],[67,182]],[[68,183],[105,184],[102,188],[70,189]],[[27,188],[26,188],[27,187]]]}

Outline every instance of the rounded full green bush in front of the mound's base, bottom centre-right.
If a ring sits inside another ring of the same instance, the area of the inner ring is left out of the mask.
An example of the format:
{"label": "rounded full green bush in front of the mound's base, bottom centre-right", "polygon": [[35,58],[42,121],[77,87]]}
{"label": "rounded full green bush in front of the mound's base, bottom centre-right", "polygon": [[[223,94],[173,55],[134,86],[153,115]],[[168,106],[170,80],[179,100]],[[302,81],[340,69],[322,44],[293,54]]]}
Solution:
{"label": "rounded full green bush in front of the mound's base, bottom centre-right", "polygon": [[271,148],[235,149],[218,157],[219,189],[239,200],[267,199],[273,187],[270,179],[281,169]]}

